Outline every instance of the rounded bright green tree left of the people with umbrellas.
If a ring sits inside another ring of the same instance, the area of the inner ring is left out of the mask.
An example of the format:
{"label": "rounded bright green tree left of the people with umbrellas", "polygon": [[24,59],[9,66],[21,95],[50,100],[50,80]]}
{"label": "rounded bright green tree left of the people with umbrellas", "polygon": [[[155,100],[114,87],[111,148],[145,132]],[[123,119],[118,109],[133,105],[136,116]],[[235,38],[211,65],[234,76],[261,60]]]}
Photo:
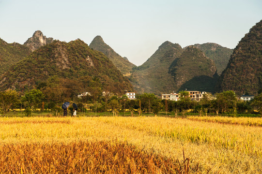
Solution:
{"label": "rounded bright green tree left of the people with umbrellas", "polygon": [[44,98],[44,94],[39,89],[32,89],[22,97],[22,101],[27,102],[30,108],[38,108]]}

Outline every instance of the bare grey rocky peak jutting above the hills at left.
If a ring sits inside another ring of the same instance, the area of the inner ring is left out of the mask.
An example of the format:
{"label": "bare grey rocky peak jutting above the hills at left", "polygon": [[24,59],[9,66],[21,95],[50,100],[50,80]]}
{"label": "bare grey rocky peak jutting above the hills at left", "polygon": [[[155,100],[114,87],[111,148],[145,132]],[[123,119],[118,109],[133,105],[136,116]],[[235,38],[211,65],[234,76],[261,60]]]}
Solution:
{"label": "bare grey rocky peak jutting above the hills at left", "polygon": [[40,48],[41,46],[44,46],[52,42],[53,38],[46,38],[46,36],[44,36],[40,30],[37,30],[33,33],[33,36],[24,43],[24,45],[29,47],[31,51],[34,51]]}

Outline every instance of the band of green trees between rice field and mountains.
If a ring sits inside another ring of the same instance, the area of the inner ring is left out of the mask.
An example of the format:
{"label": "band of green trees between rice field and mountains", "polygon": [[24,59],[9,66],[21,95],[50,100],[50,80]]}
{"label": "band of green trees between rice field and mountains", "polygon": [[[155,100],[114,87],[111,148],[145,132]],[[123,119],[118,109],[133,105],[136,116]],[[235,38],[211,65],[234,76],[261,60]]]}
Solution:
{"label": "band of green trees between rice field and mountains", "polygon": [[[86,112],[90,109],[93,112],[112,112],[114,116],[123,116],[128,111],[132,116],[134,114],[152,114],[159,112],[175,116],[178,113],[194,113],[195,115],[219,115],[227,114],[237,116],[238,114],[259,114],[262,116],[262,93],[259,93],[251,101],[237,100],[233,91],[224,91],[216,93],[216,97],[211,94],[204,94],[200,102],[192,101],[188,97],[187,91],[180,91],[178,101],[161,100],[151,93],[137,94],[135,100],[130,100],[126,95],[118,97],[110,92],[104,92],[100,89],[93,90],[86,96],[77,98],[67,98],[67,101],[76,102],[80,112]],[[47,96],[47,97],[46,97]],[[65,101],[64,101],[65,102]],[[25,109],[25,115],[30,116],[31,110],[40,109],[42,112],[51,110],[56,115],[62,111],[62,102],[56,98],[50,100],[50,96],[45,95],[40,89],[31,89],[21,95],[15,90],[6,90],[0,92],[0,111],[5,116],[11,109]]]}

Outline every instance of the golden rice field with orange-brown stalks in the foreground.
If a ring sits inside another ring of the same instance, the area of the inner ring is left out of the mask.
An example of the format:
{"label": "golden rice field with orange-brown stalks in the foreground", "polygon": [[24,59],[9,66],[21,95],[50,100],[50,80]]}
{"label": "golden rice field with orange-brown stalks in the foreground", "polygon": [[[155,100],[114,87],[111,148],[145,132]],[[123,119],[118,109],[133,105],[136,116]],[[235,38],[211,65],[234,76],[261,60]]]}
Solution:
{"label": "golden rice field with orange-brown stalks in the foreground", "polygon": [[261,174],[261,119],[1,117],[0,173]]}

